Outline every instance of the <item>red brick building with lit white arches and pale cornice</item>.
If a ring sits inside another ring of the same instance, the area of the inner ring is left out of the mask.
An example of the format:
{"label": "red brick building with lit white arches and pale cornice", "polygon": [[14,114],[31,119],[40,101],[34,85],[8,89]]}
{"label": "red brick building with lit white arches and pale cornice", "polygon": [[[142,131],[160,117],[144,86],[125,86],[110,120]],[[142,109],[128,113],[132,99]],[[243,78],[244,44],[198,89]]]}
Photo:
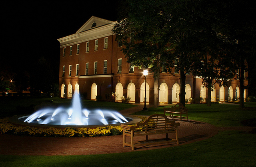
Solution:
{"label": "red brick building with lit white arches and pale cornice", "polygon": [[[130,97],[134,103],[154,103],[154,79],[146,78],[142,69],[131,67],[115,40],[112,28],[116,22],[92,16],[75,34],[58,39],[60,42],[59,92],[62,98],[72,98],[80,92],[84,99],[115,100]],[[179,102],[179,74],[160,73],[159,102]],[[245,81],[247,82],[247,81]],[[239,97],[239,80],[230,80],[228,87],[216,85],[212,101],[228,101]],[[244,97],[247,96],[246,91]],[[186,76],[186,98],[207,97],[202,80],[192,74]]]}

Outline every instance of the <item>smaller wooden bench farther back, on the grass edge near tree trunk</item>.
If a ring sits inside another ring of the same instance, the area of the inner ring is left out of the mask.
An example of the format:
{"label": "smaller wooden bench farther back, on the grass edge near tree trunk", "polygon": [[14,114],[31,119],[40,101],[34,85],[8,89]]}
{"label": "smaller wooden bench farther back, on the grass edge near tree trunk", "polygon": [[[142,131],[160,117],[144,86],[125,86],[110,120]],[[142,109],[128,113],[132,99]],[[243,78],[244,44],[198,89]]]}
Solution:
{"label": "smaller wooden bench farther back, on the grass edge near tree trunk", "polygon": [[[180,118],[180,120],[182,118],[188,119],[188,109],[184,107],[182,103],[177,103],[176,105],[170,108],[164,108],[164,115],[166,115],[167,113],[169,113],[169,115],[167,116],[171,118]],[[173,114],[178,114],[178,115],[173,115]],[[186,114],[186,117],[182,116],[182,114]]]}

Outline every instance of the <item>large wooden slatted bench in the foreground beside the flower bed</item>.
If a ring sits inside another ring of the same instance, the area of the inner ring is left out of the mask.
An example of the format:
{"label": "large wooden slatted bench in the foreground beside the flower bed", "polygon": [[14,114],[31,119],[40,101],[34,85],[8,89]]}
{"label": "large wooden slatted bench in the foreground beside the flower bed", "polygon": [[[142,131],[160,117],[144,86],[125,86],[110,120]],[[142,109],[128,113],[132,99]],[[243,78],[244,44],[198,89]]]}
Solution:
{"label": "large wooden slatted bench in the foreground beside the flower bed", "polygon": [[[136,123],[135,126],[122,124],[123,128],[123,147],[130,146],[134,150],[135,144],[153,145],[178,141],[177,127],[180,123],[176,120],[169,120],[164,114],[154,114],[148,117],[143,123]],[[175,133],[175,139],[168,137],[169,133]],[[164,139],[148,140],[148,135],[166,134]],[[130,137],[130,142],[126,141],[126,136]],[[146,136],[146,140],[134,142],[134,136]]]}

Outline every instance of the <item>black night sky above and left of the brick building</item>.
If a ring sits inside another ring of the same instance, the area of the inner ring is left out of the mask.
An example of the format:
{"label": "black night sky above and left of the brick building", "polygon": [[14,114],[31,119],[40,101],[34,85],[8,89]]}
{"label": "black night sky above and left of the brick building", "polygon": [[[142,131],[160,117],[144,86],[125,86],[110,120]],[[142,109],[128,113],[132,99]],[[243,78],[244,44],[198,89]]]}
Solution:
{"label": "black night sky above and left of the brick building", "polygon": [[57,39],[76,33],[91,16],[116,21],[115,1],[5,2],[1,5],[1,69],[31,71],[31,64],[44,56],[58,70]]}

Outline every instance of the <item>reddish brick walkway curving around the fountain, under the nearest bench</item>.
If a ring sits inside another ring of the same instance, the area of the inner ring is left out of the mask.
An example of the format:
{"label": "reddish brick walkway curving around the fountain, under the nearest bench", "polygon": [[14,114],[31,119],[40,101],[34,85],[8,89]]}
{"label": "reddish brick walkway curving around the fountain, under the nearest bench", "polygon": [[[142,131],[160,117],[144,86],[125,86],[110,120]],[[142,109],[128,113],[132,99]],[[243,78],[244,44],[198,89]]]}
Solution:
{"label": "reddish brick walkway curving around the fountain, under the nearest bench", "polygon": [[[128,115],[141,110],[142,105],[120,111]],[[208,139],[218,133],[219,130],[251,130],[248,127],[215,127],[214,125],[199,121],[177,121],[178,138],[180,145]],[[171,134],[169,135],[172,138]],[[153,135],[157,138],[157,135]],[[161,136],[161,138],[164,138]],[[149,137],[149,139],[152,139]],[[140,147],[135,151],[174,147],[175,144],[150,145]],[[89,155],[106,153],[131,152],[131,147],[122,147],[122,135],[106,137],[31,137],[0,134],[0,154],[2,155]]]}

